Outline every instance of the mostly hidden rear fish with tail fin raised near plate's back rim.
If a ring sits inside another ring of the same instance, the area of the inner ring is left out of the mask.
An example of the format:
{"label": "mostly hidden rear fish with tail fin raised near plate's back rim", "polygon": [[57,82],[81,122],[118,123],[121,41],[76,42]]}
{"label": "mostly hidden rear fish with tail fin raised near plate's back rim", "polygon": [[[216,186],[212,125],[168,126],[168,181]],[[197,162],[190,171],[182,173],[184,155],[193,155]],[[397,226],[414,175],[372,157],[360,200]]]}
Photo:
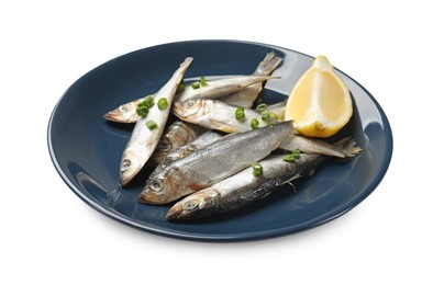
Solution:
{"label": "mostly hidden rear fish with tail fin raised near plate's back rim", "polygon": [[[281,61],[282,58],[278,57],[274,52],[268,53],[258,64],[253,76],[270,76]],[[220,100],[234,106],[252,107],[263,90],[263,84],[264,83],[252,84],[241,91],[220,98]]]}

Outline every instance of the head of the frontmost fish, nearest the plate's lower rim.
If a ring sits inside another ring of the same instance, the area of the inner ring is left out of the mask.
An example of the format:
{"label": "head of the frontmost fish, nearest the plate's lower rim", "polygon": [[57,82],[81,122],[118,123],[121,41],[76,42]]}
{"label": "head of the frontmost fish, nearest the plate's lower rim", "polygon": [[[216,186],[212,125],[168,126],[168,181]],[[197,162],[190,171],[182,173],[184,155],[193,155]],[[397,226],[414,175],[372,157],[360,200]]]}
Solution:
{"label": "head of the frontmost fish, nearest the plate's lower rim", "polygon": [[204,218],[213,213],[219,193],[211,187],[196,192],[176,203],[167,213],[167,220],[188,220]]}

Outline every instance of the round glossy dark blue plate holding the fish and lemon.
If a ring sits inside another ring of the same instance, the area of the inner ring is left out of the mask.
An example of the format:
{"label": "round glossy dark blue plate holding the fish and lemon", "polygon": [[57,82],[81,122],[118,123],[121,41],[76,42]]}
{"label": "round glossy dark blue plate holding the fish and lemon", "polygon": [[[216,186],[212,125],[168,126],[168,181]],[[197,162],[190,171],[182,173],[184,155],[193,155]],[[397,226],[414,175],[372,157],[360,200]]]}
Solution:
{"label": "round glossy dark blue plate holding the fish and lemon", "polygon": [[136,203],[144,178],[119,184],[119,163],[132,126],[108,123],[102,115],[118,105],[156,92],[187,56],[195,58],[186,78],[252,73],[274,50],[284,57],[266,83],[263,99],[289,94],[313,58],[277,46],[235,41],[193,41],[133,52],[91,70],[67,89],[48,124],[48,149],[66,184],[85,202],[126,225],[175,238],[203,241],[254,240],[306,230],[330,221],[365,200],[380,183],[392,155],[388,119],[376,100],[337,70],[354,100],[354,116],[341,132],[363,148],[360,156],[326,164],[314,176],[282,186],[245,210],[207,221],[171,224],[169,206]]}

